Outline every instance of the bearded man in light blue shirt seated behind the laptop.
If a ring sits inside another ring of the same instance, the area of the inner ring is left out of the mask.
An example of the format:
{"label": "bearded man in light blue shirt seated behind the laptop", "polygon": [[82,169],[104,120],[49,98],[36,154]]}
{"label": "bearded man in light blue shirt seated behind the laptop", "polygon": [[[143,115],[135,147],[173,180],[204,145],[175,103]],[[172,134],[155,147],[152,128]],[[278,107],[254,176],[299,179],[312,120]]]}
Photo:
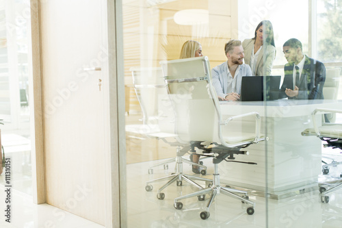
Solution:
{"label": "bearded man in light blue shirt seated behind the laptop", "polygon": [[241,78],[252,76],[250,66],[244,64],[244,49],[240,40],[229,40],[224,45],[227,62],[211,70],[213,87],[222,101],[238,101],[241,92]]}

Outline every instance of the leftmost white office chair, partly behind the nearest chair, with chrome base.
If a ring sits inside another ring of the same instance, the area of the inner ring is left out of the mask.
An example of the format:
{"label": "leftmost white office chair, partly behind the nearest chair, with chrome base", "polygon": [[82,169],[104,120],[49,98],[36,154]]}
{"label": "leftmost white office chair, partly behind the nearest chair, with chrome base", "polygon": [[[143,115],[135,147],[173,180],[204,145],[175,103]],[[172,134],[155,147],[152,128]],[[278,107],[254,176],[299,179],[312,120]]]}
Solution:
{"label": "leftmost white office chair, partly behind the nearest chair, with chrome base", "polygon": [[[194,145],[189,144],[188,142],[182,143],[176,140],[176,134],[174,134],[174,110],[172,109],[172,105],[168,97],[168,91],[163,80],[161,68],[131,68],[131,71],[133,75],[134,89],[144,115],[144,124],[140,126],[142,129],[141,133],[149,138],[157,138],[159,140],[163,140],[172,147],[176,147],[176,158],[171,158],[165,162],[155,164],[148,169],[148,173],[153,173],[153,168],[155,166],[163,165],[165,168],[166,164],[176,162],[174,173],[166,177],[147,181],[145,188],[146,191],[149,192],[153,190],[151,183],[169,180],[165,185],[159,188],[157,192],[157,198],[164,199],[165,194],[161,191],[167,186],[170,186],[174,181],[176,181],[177,186],[182,186],[182,181],[185,180],[196,187],[198,187],[198,184],[193,180],[211,182],[210,179],[185,175],[183,173],[183,163],[202,167],[202,175],[206,174],[207,167],[183,158],[183,155],[189,151],[196,151],[194,150]],[[139,129],[139,127],[135,128]]]}

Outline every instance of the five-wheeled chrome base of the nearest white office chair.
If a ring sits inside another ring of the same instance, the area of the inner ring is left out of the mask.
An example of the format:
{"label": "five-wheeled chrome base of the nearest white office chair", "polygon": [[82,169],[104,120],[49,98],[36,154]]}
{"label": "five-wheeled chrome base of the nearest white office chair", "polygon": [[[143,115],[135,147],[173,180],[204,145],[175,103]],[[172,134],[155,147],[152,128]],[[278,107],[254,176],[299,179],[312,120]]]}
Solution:
{"label": "five-wheeled chrome base of the nearest white office chair", "polygon": [[[207,207],[205,208],[205,211],[200,213],[200,218],[205,220],[209,218],[210,216],[209,208],[211,204],[213,203],[213,200],[215,199],[216,196],[222,193],[222,194],[225,194],[226,196],[239,199],[241,200],[242,203],[248,203],[249,205],[251,205],[251,207],[247,208],[246,210],[247,214],[254,214],[255,203],[249,200],[247,192],[220,186],[220,174],[218,174],[218,164],[214,164],[214,169],[215,169],[215,172],[213,174],[212,186],[209,186],[209,188],[204,188],[202,190],[199,190],[198,192],[190,193],[182,197],[177,197],[176,199],[174,199],[174,208],[176,208],[177,210],[181,210],[183,208],[183,203],[179,202],[182,199],[187,199],[189,197],[198,197],[199,201],[204,201],[205,194],[211,193],[211,197],[209,199]],[[239,196],[238,194],[242,194],[243,196]]]}

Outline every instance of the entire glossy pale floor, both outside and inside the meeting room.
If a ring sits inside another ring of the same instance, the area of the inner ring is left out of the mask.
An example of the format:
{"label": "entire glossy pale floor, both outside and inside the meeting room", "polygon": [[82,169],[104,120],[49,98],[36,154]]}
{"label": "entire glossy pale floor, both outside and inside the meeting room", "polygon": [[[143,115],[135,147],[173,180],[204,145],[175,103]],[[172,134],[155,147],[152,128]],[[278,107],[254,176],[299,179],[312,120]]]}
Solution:
{"label": "entire glossy pale floor, both outside and inside the meeting room", "polygon": [[[335,153],[336,154],[336,153]],[[335,156],[342,160],[342,156]],[[154,169],[153,175],[148,175],[147,169],[153,162],[129,164],[127,166],[127,224],[128,227],[342,227],[342,188],[331,194],[328,204],[319,201],[317,191],[300,194],[295,197],[272,200],[267,202],[264,197],[250,196],[256,203],[255,213],[246,214],[246,204],[220,194],[210,209],[207,220],[200,218],[205,201],[196,197],[183,200],[183,209],[173,207],[173,199],[182,194],[196,190],[183,182],[183,186],[175,184],[168,186],[163,192],[165,199],[157,199],[157,189],[164,183],[153,183],[154,189],[146,192],[148,179],[163,177],[172,172],[172,164],[168,170],[162,167]],[[205,160],[209,167],[207,175],[213,173],[211,160]],[[338,177],[342,166],[331,167],[330,175]],[[190,166],[184,166],[184,173],[190,173]],[[204,183],[204,182],[203,182]],[[5,223],[5,217],[0,217],[0,227],[102,227],[89,220],[80,218],[51,205],[35,205],[29,195],[17,190],[12,192],[12,223]],[[5,208],[5,192],[0,186],[0,208]]]}

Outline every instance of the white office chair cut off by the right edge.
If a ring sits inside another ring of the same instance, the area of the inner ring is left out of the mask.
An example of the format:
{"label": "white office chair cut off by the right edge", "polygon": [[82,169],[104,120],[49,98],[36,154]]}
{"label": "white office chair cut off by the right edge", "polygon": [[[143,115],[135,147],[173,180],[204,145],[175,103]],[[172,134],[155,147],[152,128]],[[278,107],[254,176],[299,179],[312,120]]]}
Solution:
{"label": "white office chair cut off by the right edge", "polygon": [[[342,149],[342,125],[341,124],[330,124],[321,125],[317,124],[317,114],[325,113],[342,113],[342,110],[329,110],[317,108],[313,116],[313,128],[305,129],[302,132],[302,136],[317,136],[320,140],[325,141],[324,147],[332,147]],[[342,164],[342,162],[335,162],[334,165]],[[342,174],[340,175],[342,177]],[[329,197],[326,194],[337,190],[342,187],[342,179],[337,179],[333,181],[324,181],[319,183],[319,192],[321,192],[321,202],[328,203]],[[328,188],[328,190],[327,190]]]}

